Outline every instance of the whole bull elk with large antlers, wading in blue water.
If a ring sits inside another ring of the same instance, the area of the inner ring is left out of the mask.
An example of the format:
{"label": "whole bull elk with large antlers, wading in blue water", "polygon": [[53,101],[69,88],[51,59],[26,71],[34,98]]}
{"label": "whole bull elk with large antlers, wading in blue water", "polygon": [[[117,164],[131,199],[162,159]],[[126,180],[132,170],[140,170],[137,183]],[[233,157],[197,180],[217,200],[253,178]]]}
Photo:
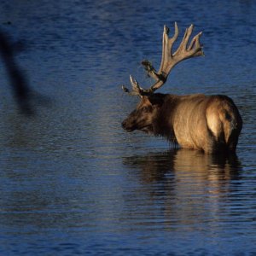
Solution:
{"label": "whole bull elk with large antlers, wading in blue water", "polygon": [[172,54],[172,46],[178,36],[177,23],[172,38],[168,36],[169,28],[164,26],[159,71],[156,72],[149,61],[142,62],[148,75],[156,82],[146,90],[130,76],[132,90],[122,86],[125,92],[141,97],[137,108],[122,122],[122,126],[126,131],[145,131],[166,137],[182,148],[203,150],[207,154],[236,152],[242,120],[230,97],[154,93],[166,83],[169,73],[178,62],[204,55],[200,44],[202,32],[189,44],[193,27],[191,25],[186,29],[181,44]]}

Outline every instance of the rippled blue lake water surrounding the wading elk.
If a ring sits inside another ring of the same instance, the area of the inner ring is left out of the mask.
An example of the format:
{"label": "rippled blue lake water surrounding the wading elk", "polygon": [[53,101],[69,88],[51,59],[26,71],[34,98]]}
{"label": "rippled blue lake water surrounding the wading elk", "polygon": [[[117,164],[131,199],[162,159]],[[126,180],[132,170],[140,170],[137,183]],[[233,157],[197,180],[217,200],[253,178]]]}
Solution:
{"label": "rippled blue lake water surrounding the wading elk", "polygon": [[[0,55],[0,255],[256,255],[256,2],[0,2],[0,31],[33,90],[20,113]],[[163,26],[195,24],[205,57],[160,92],[225,94],[237,155],[127,133],[121,84],[152,84]]]}

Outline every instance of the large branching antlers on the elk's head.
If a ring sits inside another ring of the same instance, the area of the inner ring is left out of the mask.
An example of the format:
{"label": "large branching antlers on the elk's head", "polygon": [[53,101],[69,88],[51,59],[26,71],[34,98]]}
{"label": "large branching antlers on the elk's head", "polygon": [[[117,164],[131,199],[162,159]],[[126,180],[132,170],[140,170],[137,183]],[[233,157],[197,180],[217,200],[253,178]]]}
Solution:
{"label": "large branching antlers on the elk's head", "polygon": [[[168,37],[169,28],[167,26],[164,26],[162,59],[161,59],[159,71],[156,72],[154,67],[149,61],[147,60],[142,61],[142,64],[145,70],[148,72],[148,75],[152,77],[156,82],[149,89],[143,89],[137,83],[136,79],[133,79],[130,76],[132,90],[131,91],[128,90],[124,85],[122,86],[123,90],[125,90],[125,92],[130,93],[131,95],[139,95],[139,96],[152,95],[154,94],[155,90],[159,89],[163,84],[166,83],[166,79],[169,73],[171,72],[172,67],[174,67],[178,62],[195,57],[195,56],[204,55],[202,50],[202,45],[200,44],[200,41],[199,41],[202,32],[199,32],[189,44],[189,37],[193,32],[193,28],[194,26],[191,25],[189,26],[189,28],[186,29],[181,44],[179,45],[175,53],[172,54],[172,46],[178,36],[177,22],[175,22],[175,32],[172,38]],[[189,47],[188,47],[188,44],[189,44]]]}

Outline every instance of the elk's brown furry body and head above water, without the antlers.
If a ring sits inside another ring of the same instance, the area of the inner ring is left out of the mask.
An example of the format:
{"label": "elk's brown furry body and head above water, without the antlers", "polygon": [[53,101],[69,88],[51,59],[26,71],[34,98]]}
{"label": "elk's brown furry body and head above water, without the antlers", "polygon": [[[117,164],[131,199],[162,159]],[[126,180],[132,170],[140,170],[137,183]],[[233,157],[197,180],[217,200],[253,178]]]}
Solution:
{"label": "elk's brown furry body and head above water, without the antlers", "polygon": [[228,96],[156,93],[143,96],[122,125],[126,131],[166,137],[182,148],[216,153],[236,152],[242,120]]}

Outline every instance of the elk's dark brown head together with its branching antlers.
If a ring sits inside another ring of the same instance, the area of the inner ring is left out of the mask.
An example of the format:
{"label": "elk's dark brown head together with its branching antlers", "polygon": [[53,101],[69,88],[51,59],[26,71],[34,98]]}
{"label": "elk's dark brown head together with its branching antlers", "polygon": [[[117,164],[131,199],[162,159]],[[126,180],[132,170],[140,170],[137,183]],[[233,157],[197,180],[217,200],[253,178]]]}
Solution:
{"label": "elk's dark brown head together with its branching antlers", "polygon": [[160,87],[166,83],[169,73],[178,62],[191,57],[204,55],[202,46],[199,42],[202,32],[198,33],[189,44],[189,37],[193,32],[193,27],[194,26],[191,25],[186,29],[181,44],[172,54],[172,46],[178,36],[177,23],[175,22],[175,32],[172,38],[168,37],[169,28],[164,26],[162,58],[159,71],[156,72],[149,61],[142,61],[148,76],[155,80],[155,83],[148,90],[143,89],[137,83],[137,80],[133,79],[131,76],[132,90],[128,90],[125,86],[122,86],[125,92],[141,97],[141,102],[139,102],[137,108],[132,111],[122,123],[122,126],[126,131],[140,130],[155,135],[157,134],[157,119],[160,115],[160,108],[165,102],[166,95],[154,93],[154,91],[160,89]]}

